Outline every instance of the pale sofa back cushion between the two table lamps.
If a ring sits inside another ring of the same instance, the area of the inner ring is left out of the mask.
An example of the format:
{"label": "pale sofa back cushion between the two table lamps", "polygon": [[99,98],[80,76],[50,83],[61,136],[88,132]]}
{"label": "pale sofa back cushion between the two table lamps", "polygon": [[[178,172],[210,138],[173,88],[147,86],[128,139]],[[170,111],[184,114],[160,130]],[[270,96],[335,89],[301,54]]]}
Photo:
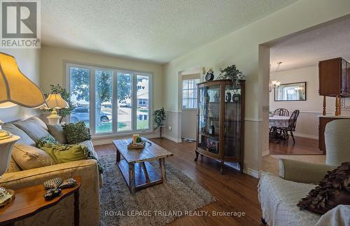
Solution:
{"label": "pale sofa back cushion between the two table lamps", "polygon": [[28,118],[27,120],[13,122],[16,127],[22,129],[35,142],[44,136],[48,136],[48,127],[39,118]]}

